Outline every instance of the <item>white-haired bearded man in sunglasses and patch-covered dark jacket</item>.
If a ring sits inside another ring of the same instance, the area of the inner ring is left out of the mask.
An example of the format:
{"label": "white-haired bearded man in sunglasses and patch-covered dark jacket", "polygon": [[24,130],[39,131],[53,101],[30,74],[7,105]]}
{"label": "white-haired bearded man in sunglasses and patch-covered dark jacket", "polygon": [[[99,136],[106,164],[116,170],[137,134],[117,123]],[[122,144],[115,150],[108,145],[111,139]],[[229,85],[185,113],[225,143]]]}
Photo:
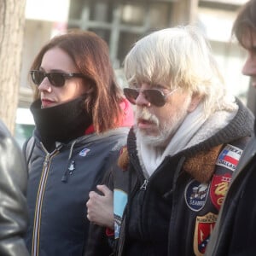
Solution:
{"label": "white-haired bearded man in sunglasses and patch-covered dark jacket", "polygon": [[[106,177],[113,195],[105,185],[98,186],[101,195],[90,192],[88,218],[113,227],[114,255],[202,255],[253,131],[253,114],[230,96],[193,26],[149,34],[124,64],[124,93],[135,105],[136,123]],[[85,255],[108,255],[91,229]]]}

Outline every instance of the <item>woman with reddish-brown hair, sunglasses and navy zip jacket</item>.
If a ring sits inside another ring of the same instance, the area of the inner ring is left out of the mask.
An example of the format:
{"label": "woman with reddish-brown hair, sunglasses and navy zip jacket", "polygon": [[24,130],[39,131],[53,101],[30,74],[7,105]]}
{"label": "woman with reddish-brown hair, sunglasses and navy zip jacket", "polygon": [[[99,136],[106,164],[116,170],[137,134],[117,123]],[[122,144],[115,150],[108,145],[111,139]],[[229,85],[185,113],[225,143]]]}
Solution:
{"label": "woman with reddish-brown hair, sunglasses and navy zip jacket", "polygon": [[35,121],[24,145],[33,256],[82,255],[85,202],[119,156],[133,124],[131,103],[116,82],[108,45],[94,32],[51,38],[30,70]]}

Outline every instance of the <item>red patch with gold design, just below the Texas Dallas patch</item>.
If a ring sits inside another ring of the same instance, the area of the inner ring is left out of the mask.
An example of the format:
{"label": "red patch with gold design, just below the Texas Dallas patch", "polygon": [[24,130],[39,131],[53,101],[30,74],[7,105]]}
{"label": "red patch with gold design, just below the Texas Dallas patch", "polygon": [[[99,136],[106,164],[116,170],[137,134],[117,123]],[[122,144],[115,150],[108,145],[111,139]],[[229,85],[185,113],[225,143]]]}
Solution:
{"label": "red patch with gold design, just below the Texas Dallas patch", "polygon": [[225,173],[223,175],[214,174],[212,177],[212,183],[210,187],[210,197],[212,200],[212,204],[218,210],[224,201],[224,196],[227,193],[230,181],[231,181],[230,173]]}

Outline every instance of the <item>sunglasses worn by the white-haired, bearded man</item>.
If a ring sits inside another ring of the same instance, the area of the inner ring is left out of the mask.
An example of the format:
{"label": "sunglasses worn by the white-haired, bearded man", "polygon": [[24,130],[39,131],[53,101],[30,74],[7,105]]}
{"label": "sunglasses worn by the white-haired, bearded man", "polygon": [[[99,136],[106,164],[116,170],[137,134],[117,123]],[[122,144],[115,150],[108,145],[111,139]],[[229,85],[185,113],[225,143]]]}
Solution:
{"label": "sunglasses worn by the white-haired, bearded man", "polygon": [[137,97],[140,93],[143,94],[143,97],[151,104],[153,104],[156,107],[163,107],[166,104],[166,97],[170,96],[172,92],[174,92],[176,89],[172,90],[168,94],[164,94],[161,90],[158,89],[131,89],[131,88],[125,88],[124,94],[125,97],[131,104],[136,104]]}

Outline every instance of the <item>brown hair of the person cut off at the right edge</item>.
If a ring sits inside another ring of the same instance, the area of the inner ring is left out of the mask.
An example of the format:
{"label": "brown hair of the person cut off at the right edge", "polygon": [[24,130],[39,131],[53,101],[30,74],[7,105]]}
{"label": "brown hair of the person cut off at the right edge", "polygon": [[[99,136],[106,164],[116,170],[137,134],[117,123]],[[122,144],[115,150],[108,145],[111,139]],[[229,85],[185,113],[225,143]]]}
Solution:
{"label": "brown hair of the person cut off at the right edge", "polygon": [[252,32],[256,32],[256,0],[250,0],[241,7],[232,32],[242,46],[243,38],[252,37]]}

